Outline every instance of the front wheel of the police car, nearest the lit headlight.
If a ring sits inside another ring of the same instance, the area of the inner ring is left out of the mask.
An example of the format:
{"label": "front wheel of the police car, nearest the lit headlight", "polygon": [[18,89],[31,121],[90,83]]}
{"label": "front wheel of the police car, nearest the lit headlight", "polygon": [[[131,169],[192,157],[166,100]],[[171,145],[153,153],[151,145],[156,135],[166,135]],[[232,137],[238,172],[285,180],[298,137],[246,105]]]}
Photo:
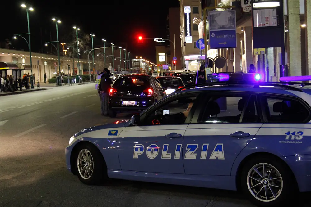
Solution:
{"label": "front wheel of the police car, nearest the lit headlight", "polygon": [[[85,160],[86,156],[82,156],[81,153],[85,155],[85,152],[88,154],[89,158],[87,164],[85,161],[82,161]],[[78,166],[78,164],[84,165]],[[72,165],[74,165],[79,180],[86,185],[100,184],[108,178],[107,166],[104,158],[96,146],[91,143],[85,142],[75,149]],[[86,167],[87,170],[83,170],[84,167]]]}

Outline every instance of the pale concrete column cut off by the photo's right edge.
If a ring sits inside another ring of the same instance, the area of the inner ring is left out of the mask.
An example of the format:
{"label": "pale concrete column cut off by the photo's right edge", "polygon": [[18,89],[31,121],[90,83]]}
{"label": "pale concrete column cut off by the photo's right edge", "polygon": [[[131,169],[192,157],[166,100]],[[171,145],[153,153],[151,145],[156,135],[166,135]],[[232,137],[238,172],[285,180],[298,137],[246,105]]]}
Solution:
{"label": "pale concrete column cut off by the photo's right edge", "polygon": [[307,28],[305,28],[306,37],[306,66],[309,75],[311,75],[311,2],[304,0],[304,18]]}

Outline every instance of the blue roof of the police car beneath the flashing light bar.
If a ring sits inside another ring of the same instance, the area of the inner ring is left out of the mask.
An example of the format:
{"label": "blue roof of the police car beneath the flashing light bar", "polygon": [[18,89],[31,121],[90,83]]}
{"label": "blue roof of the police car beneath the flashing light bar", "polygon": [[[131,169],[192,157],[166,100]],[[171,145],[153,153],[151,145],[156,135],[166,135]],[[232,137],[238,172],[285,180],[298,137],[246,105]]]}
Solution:
{"label": "blue roof of the police car beneath the flashing light bar", "polygon": [[[262,86],[262,87],[260,87]],[[270,93],[279,95],[290,95],[297,97],[295,92],[305,92],[311,95],[311,89],[299,89],[289,85],[269,84],[269,83],[253,83],[253,84],[222,84],[210,83],[185,87],[176,90],[171,95],[185,92],[199,91],[232,91],[232,92],[253,92],[253,93]]]}

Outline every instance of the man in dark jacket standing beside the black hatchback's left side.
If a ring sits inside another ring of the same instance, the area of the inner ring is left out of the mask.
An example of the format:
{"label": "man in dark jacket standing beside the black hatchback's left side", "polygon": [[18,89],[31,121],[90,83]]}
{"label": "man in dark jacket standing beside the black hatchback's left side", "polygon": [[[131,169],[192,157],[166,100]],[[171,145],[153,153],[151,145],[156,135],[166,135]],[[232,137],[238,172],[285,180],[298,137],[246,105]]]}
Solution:
{"label": "man in dark jacket standing beside the black hatchback's left side", "polygon": [[101,115],[108,116],[108,98],[109,98],[109,91],[111,88],[112,81],[110,80],[110,72],[108,68],[103,70],[104,74],[101,76],[100,80],[100,94],[102,98],[102,111]]}

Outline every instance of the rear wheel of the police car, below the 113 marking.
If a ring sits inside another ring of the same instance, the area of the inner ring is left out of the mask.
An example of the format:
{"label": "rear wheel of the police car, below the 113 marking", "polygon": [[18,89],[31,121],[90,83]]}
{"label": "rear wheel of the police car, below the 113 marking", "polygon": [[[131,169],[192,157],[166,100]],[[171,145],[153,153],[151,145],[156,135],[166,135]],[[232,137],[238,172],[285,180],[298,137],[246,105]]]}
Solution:
{"label": "rear wheel of the police car, below the 113 marking", "polygon": [[[265,171],[267,172],[266,176],[262,176],[263,166],[265,166]],[[272,171],[271,167],[273,167]],[[263,178],[253,169],[257,169]],[[268,174],[270,174],[269,177]],[[249,176],[256,178],[256,180]],[[295,183],[295,177],[292,175],[289,167],[274,157],[255,157],[249,160],[242,168],[241,189],[244,195],[246,195],[254,205],[259,207],[282,206],[288,204],[290,198],[293,198],[294,194],[298,191]],[[274,196],[272,191],[274,192]],[[255,197],[256,194],[258,195]]]}

